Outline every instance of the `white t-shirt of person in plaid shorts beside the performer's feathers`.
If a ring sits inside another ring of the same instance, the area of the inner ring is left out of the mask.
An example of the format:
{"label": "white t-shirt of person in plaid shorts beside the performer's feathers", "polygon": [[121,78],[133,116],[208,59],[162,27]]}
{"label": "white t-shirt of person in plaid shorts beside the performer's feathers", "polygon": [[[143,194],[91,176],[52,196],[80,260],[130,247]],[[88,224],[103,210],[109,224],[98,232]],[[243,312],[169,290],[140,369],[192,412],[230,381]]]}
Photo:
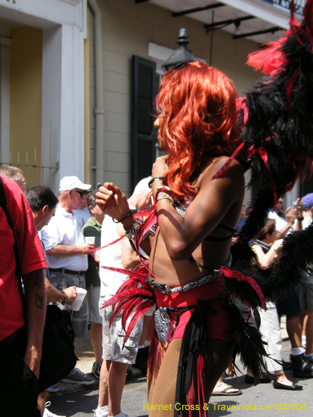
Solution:
{"label": "white t-shirt of person in plaid shorts beside the performer's feathers", "polygon": [[[117,226],[118,224],[113,222],[109,215],[106,215],[102,223],[101,246],[108,245],[108,243],[111,243],[120,237],[116,231]],[[120,286],[129,278],[129,275],[106,270],[101,268],[102,265],[124,269],[122,265],[122,240],[100,251],[100,295],[102,297],[105,297],[106,295],[115,295],[118,288],[120,288]]]}

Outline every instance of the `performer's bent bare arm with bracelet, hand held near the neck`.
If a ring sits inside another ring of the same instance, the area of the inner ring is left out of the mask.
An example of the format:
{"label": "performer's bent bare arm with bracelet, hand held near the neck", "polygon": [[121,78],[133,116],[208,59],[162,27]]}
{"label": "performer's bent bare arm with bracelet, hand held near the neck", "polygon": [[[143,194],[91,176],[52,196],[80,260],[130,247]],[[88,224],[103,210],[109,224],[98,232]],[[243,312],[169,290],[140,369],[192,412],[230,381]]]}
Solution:
{"label": "performer's bent bare arm with bracelet, hand held near the neck", "polygon": [[[199,193],[188,207],[184,218],[177,213],[170,200],[161,199],[157,202],[159,228],[171,259],[175,261],[187,259],[236,203],[240,206],[239,217],[244,193],[241,165],[237,161],[232,161],[224,174],[211,181],[227,159],[220,157],[204,170],[197,183],[200,187]],[[152,177],[164,176],[165,161],[165,158],[157,158]],[[160,186],[159,182],[152,183],[154,197],[157,186]],[[230,215],[229,219],[230,227],[236,227],[237,215]]]}

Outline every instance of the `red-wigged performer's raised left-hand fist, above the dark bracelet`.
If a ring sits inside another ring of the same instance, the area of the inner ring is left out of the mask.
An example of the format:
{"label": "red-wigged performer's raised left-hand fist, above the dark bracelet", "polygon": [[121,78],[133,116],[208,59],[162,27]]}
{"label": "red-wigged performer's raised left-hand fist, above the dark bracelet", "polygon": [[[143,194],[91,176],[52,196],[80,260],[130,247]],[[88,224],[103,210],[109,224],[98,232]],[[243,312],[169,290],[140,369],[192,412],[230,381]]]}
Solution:
{"label": "red-wigged performer's raised left-hand fist, above the dark bracelet", "polygon": [[124,193],[113,183],[104,183],[96,193],[96,204],[116,220],[121,220],[129,213],[129,204]]}

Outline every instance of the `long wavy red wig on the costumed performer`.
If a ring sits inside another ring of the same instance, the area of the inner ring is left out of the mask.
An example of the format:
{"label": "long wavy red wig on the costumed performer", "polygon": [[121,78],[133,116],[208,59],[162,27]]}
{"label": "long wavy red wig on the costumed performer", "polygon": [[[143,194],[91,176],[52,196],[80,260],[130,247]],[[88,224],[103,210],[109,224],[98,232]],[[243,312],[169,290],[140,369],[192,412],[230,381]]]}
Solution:
{"label": "long wavy red wig on the costumed performer", "polygon": [[234,85],[216,68],[187,63],[163,76],[156,105],[168,152],[166,182],[179,199],[193,196],[192,182],[209,158],[230,156],[238,146]]}

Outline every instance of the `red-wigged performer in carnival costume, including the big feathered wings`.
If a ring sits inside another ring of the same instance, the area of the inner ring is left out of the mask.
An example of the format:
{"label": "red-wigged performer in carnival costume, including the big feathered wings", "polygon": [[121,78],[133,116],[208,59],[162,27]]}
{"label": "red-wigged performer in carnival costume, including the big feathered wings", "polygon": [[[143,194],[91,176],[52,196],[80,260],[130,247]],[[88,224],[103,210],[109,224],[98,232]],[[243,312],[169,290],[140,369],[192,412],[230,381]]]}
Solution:
{"label": "red-wigged performer in carnival costume, including the big feathered wings", "polygon": [[[268,279],[253,268],[248,245],[278,198],[312,171],[313,1],[300,24],[291,5],[286,36],[249,58],[266,77],[237,101],[239,119],[234,86],[222,72],[195,62],[163,76],[155,125],[168,155],[152,170],[152,212],[130,211],[113,183],[97,193],[97,204],[122,222],[137,250],[143,244],[150,253],[149,267],[145,261],[134,272],[120,270],[131,278],[109,304],[123,311],[127,340],[157,302],[148,368],[151,417],[207,416],[211,391],[238,352],[257,382],[264,369],[259,354],[266,352],[233,301],[265,309],[264,296],[275,301],[294,288],[312,257],[313,226],[284,239]],[[232,262],[244,193],[241,166],[251,170],[254,199]]]}

